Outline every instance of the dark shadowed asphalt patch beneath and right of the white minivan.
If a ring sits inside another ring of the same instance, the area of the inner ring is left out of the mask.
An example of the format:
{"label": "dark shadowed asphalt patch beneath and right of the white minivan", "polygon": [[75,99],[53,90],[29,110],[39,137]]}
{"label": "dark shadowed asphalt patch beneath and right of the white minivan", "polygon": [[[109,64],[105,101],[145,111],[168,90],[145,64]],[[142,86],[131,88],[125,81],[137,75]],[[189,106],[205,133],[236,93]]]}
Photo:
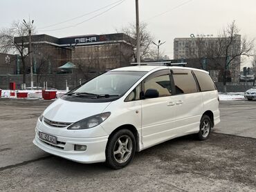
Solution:
{"label": "dark shadowed asphalt patch beneath and right of the white minivan", "polygon": [[56,156],[40,164],[48,171],[81,177],[119,173],[129,175],[129,171],[140,174],[152,170],[152,173],[199,174],[212,179],[252,184],[256,170],[248,167],[256,167],[256,152],[253,150],[255,144],[255,139],[218,133],[212,133],[205,141],[187,135],[136,153],[133,162],[118,171],[104,163],[80,164]]}

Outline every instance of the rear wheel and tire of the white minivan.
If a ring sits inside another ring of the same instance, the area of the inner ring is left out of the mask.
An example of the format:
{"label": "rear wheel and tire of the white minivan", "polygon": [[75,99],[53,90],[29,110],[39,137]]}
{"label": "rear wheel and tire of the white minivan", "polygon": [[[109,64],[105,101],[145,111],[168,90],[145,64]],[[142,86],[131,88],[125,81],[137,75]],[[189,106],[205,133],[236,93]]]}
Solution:
{"label": "rear wheel and tire of the white minivan", "polygon": [[212,127],[212,122],[208,115],[203,115],[200,121],[199,133],[197,133],[197,137],[199,140],[207,140],[210,135],[210,130]]}

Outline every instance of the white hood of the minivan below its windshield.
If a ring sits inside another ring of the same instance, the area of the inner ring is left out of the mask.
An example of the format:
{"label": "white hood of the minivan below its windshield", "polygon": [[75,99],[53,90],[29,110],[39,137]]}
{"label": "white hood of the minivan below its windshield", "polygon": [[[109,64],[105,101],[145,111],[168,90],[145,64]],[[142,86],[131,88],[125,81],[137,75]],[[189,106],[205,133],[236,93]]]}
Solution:
{"label": "white hood of the minivan below its windshield", "polygon": [[81,103],[57,99],[46,108],[43,115],[46,119],[54,122],[73,123],[86,117],[102,113],[109,104],[111,104],[111,102]]}

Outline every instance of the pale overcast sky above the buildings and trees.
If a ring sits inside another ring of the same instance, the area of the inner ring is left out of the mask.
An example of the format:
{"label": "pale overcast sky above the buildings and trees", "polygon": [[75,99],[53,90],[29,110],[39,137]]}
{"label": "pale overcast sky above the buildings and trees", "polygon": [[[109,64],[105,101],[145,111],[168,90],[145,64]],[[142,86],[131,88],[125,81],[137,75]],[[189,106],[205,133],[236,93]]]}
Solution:
{"label": "pale overcast sky above the buildings and trees", "polygon": [[[30,17],[38,34],[54,37],[113,33],[136,18],[135,0],[1,0],[0,8],[0,28]],[[156,41],[166,41],[161,51],[171,59],[174,38],[191,33],[217,36],[233,20],[241,35],[256,37],[255,0],[139,0],[139,9],[140,21],[148,24]],[[52,26],[55,23],[61,24]]]}

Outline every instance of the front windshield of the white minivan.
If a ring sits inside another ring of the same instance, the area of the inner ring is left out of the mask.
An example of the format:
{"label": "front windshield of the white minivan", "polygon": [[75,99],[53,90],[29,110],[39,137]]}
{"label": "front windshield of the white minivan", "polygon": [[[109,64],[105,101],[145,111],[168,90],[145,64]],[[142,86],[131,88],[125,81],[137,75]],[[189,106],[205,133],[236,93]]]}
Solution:
{"label": "front windshield of the white minivan", "polygon": [[143,77],[145,71],[109,71],[73,90],[69,95],[123,95],[138,79]]}

